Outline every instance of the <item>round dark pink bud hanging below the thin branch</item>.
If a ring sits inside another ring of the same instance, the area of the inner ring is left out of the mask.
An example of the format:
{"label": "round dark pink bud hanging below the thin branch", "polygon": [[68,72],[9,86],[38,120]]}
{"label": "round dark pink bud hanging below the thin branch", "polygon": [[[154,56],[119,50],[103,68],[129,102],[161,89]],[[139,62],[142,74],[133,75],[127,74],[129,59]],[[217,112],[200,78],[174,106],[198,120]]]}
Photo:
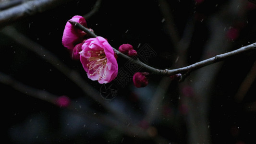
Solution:
{"label": "round dark pink bud hanging below the thin branch", "polygon": [[136,72],[133,77],[134,85],[136,87],[145,87],[148,84],[148,72]]}

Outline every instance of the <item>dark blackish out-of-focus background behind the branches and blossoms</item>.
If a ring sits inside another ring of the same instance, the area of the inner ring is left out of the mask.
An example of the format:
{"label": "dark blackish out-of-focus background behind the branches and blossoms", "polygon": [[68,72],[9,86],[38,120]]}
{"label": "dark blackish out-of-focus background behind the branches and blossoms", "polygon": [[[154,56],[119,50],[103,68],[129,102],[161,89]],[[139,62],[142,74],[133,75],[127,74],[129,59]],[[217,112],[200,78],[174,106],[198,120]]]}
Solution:
{"label": "dark blackish out-of-focus background behind the branches and blossoms", "polygon": [[[205,0],[202,3],[195,3],[194,0],[167,0],[169,11],[173,14],[173,25],[179,37],[183,35],[187,22],[191,19],[195,21],[195,30],[185,57],[186,64],[201,60],[204,48],[212,35],[209,19],[213,15],[221,15],[223,8],[229,5],[230,1]],[[246,0],[241,1],[248,4]],[[69,51],[61,44],[66,22],[74,15],[84,15],[89,12],[94,3],[95,0],[73,0],[11,25],[51,51],[99,91],[101,85],[87,78],[81,63],[72,60]],[[157,53],[156,57],[148,61],[153,67],[172,69],[185,66],[173,65],[177,57],[177,49],[174,48],[165,25],[167,18],[163,21],[160,8],[158,0],[104,0],[99,11],[86,21],[96,35],[106,37],[114,48],[118,48],[123,43],[132,44],[135,50],[139,49],[137,48],[139,45],[149,45]],[[226,25],[227,29],[233,26],[239,29],[239,35],[235,39],[225,37],[224,41],[231,45],[231,49],[226,51],[256,41],[254,21],[256,6],[250,4],[244,9],[246,12],[241,14],[243,18],[238,16],[227,20],[233,23]],[[213,54],[220,53],[215,51]],[[242,101],[237,102],[235,99],[238,88],[255,63],[255,55],[255,51],[249,52],[221,62],[220,69],[214,77],[215,81],[209,88],[207,103],[209,141],[213,144],[256,143],[256,82],[251,84]],[[0,72],[12,76],[23,84],[57,96],[69,96],[71,100],[80,102],[82,106],[85,105],[106,115],[110,113],[100,107],[98,102],[85,96],[77,85],[48,61],[2,33],[0,61]],[[118,58],[119,67],[125,62],[122,58]],[[187,81],[190,80],[189,77]],[[135,88],[132,82],[124,88],[114,82],[118,95],[109,101],[109,104],[130,115],[132,122],[143,127],[143,122],[140,120],[146,113],[152,93],[156,92],[160,79],[160,76],[152,76],[149,85],[141,89]],[[196,80],[194,79],[192,83],[196,83]],[[190,143],[190,131],[187,125],[189,117],[181,108],[183,106],[180,99],[183,95],[179,92],[181,89],[180,83],[170,84],[161,104],[160,116],[150,124],[157,129],[158,135],[171,144]],[[129,136],[125,132],[101,124],[100,121],[89,119],[90,116],[86,116],[86,113],[77,114],[70,109],[27,96],[8,84],[0,83],[0,90],[3,103],[3,137],[7,139],[6,144],[158,143],[154,138]]]}

